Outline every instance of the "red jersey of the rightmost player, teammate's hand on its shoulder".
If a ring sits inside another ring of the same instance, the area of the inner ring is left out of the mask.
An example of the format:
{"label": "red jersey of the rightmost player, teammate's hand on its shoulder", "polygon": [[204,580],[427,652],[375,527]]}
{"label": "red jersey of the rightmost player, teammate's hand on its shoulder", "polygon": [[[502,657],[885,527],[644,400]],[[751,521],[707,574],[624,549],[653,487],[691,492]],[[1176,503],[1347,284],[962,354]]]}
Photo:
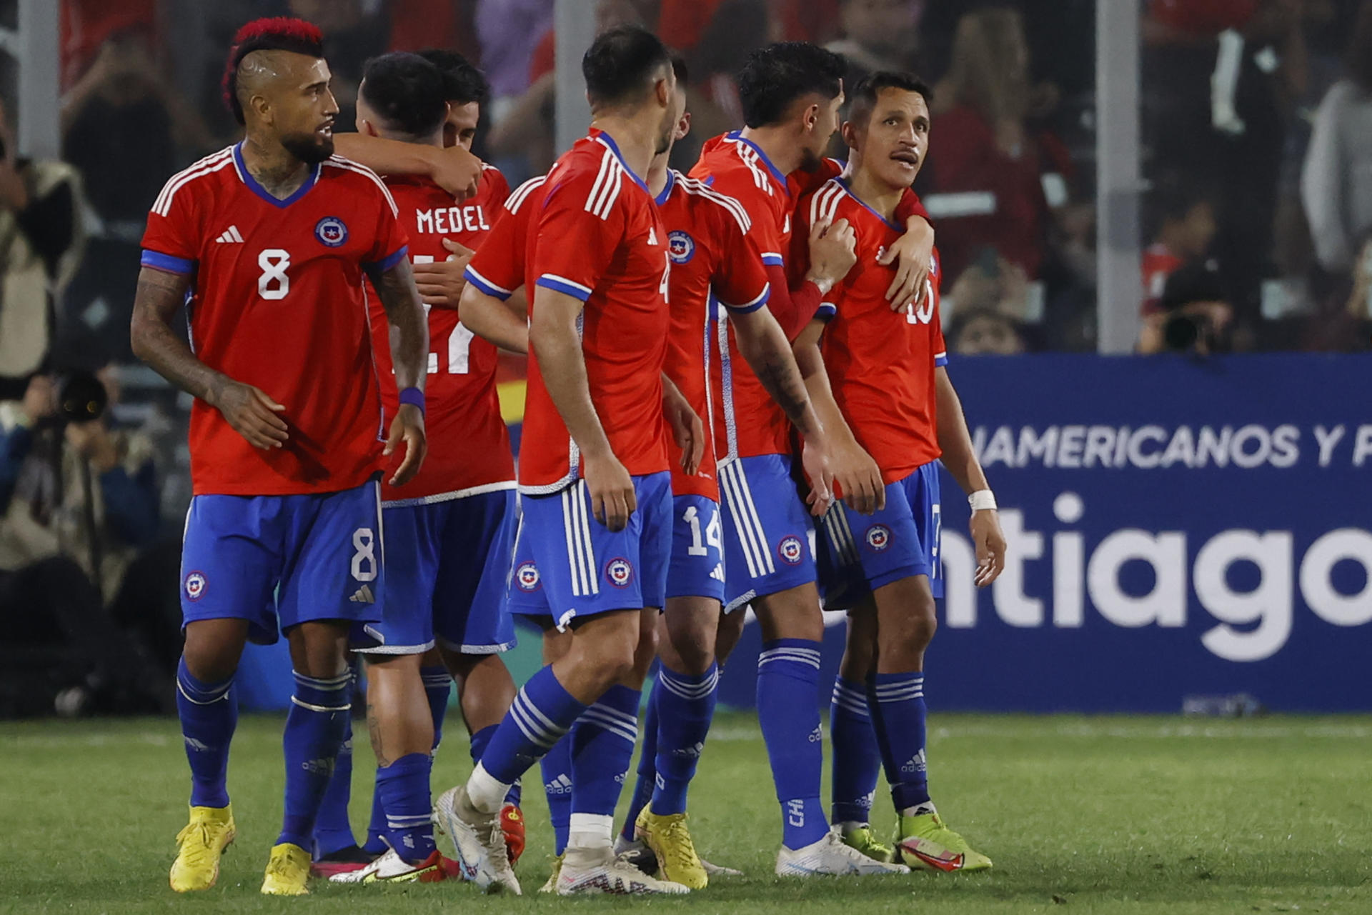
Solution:
{"label": "red jersey of the rightmost player, teammate's hand on its shoulder", "polygon": [[[877,258],[904,226],[878,215],[840,178],[801,200],[797,240],[820,218],[848,219],[858,236],[858,262],[819,307],[818,317],[829,322],[822,343],[829,383],[858,443],[881,468],[882,482],[893,483],[941,454],[934,368],[948,364],[948,353],[938,321],[938,255],[929,265],[926,295],[904,314],[893,313],[886,288],[896,269]],[[796,255],[797,262],[804,257]]]}

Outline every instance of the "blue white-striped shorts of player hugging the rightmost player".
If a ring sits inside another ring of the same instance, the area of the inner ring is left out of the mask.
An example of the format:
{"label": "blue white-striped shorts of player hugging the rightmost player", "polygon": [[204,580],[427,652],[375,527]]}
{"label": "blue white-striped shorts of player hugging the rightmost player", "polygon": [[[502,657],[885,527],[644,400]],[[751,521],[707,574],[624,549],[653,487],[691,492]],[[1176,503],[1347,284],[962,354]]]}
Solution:
{"label": "blue white-striped shorts of player hugging the rightmost player", "polygon": [[790,457],[763,454],[720,466],[724,495],[724,612],[815,580],[815,525]]}

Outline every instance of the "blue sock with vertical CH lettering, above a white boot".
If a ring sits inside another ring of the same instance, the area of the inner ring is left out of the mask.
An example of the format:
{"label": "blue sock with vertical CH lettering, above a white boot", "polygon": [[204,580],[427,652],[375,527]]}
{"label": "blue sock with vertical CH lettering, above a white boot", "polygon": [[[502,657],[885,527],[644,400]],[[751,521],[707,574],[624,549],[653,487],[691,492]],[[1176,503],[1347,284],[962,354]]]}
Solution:
{"label": "blue sock with vertical CH lettering, above a white boot", "polygon": [[818,842],[829,831],[819,803],[825,748],[815,705],[818,685],[819,642],[763,643],[757,658],[757,720],[781,801],[782,842],[790,849]]}

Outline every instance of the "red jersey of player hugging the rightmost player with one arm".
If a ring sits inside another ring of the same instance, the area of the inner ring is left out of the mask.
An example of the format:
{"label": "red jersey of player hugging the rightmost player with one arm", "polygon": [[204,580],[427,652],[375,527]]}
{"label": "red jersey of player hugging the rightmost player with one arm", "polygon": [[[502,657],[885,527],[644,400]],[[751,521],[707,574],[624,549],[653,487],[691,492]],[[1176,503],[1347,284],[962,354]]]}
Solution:
{"label": "red jersey of player hugging the rightmost player with one arm", "polygon": [[[786,176],[756,144],[735,130],[708,140],[690,177],[742,204],[750,218],[748,237],[764,265],[781,266],[790,247],[794,200]],[[727,316],[719,318],[709,355],[715,442],[719,460],[790,453],[790,423],[738,354]]]}

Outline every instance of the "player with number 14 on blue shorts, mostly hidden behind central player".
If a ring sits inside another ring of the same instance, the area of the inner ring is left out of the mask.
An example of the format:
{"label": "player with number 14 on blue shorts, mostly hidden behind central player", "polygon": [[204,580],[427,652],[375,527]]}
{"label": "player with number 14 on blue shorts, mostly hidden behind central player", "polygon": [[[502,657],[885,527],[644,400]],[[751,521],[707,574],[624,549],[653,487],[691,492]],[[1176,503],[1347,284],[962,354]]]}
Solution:
{"label": "player with number 14 on blue shorts, mostly hidden behind central player", "polygon": [[[690,130],[686,69],[674,62],[682,118]],[[672,314],[665,372],[700,416],[713,406],[707,383],[712,309],[723,307],[740,353],[804,439],[807,472],[826,483],[826,438],[809,405],[790,343],[767,310],[771,285],[749,233],[749,217],[731,198],[667,167],[670,152],[653,158],[648,187],[667,225],[672,259],[668,302]],[[667,879],[702,889],[708,867],[686,829],[686,793],[713,717],[719,665],[715,637],[724,597],[724,557],[715,453],[707,443],[705,471],[689,475],[672,454],[672,556],[667,608],[659,623],[657,686],[649,700],[638,783],[616,851],[646,842]],[[816,499],[826,499],[826,494]]]}

